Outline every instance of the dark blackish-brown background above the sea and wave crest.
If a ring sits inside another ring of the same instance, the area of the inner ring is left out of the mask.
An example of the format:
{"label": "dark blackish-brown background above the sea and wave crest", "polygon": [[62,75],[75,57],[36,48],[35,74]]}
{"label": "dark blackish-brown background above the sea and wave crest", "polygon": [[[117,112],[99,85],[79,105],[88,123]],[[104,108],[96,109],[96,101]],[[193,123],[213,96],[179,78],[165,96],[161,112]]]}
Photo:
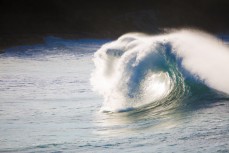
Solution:
{"label": "dark blackish-brown background above the sea and wave crest", "polygon": [[0,0],[0,48],[183,27],[229,33],[229,0]]}

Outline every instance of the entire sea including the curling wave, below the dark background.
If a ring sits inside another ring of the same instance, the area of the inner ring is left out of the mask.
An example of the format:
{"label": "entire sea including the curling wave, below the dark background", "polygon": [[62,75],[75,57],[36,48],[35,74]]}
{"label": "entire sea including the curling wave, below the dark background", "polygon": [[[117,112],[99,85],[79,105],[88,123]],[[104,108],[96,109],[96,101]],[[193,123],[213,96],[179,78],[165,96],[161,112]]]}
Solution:
{"label": "entire sea including the curling wave, below the dark background", "polygon": [[0,54],[0,152],[229,152],[229,37],[181,30]]}

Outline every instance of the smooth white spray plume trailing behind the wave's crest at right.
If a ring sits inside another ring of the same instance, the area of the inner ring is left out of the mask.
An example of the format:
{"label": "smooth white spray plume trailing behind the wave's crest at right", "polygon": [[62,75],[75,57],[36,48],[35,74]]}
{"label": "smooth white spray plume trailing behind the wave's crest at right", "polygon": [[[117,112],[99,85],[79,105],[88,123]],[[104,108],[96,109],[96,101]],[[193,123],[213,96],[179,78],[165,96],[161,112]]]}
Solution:
{"label": "smooth white spray plume trailing behind the wave's crest at right", "polygon": [[229,94],[229,48],[216,37],[193,30],[169,36],[182,65],[211,88]]}

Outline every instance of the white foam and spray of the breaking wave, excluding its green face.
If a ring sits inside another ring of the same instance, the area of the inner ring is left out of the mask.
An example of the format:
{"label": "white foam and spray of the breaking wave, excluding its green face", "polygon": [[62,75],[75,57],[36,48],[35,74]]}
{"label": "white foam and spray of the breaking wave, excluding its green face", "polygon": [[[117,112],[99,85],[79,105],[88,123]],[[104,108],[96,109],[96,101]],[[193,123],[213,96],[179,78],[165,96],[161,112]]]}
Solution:
{"label": "white foam and spray of the breaking wave, excluding its green face", "polygon": [[[160,63],[164,61],[158,53],[165,43],[172,46],[173,54],[182,59],[183,68],[190,74],[209,87],[229,94],[229,48],[214,36],[195,30],[157,36],[129,33],[103,45],[94,55],[96,68],[91,84],[103,95],[104,109],[128,109],[136,106],[139,98],[148,99],[142,98],[144,95],[151,95],[155,100],[169,94],[172,83],[165,74],[160,75]],[[153,70],[153,75],[142,72],[145,69]],[[142,77],[141,73],[147,74]],[[158,76],[164,78],[163,81]],[[156,88],[161,91],[154,90]],[[147,94],[142,93],[144,89]]]}

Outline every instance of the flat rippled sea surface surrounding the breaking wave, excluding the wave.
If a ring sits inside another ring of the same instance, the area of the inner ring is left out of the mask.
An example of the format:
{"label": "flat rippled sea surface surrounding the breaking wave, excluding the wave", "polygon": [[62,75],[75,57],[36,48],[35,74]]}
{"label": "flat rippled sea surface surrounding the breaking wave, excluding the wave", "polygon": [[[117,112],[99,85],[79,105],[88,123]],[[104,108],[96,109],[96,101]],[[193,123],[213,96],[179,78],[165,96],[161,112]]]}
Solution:
{"label": "flat rippled sea surface surrounding the breaking wave, excluding the wave", "polygon": [[90,79],[106,42],[50,37],[0,55],[0,152],[229,152],[221,92],[195,99],[192,91],[179,107],[101,110],[107,102]]}

